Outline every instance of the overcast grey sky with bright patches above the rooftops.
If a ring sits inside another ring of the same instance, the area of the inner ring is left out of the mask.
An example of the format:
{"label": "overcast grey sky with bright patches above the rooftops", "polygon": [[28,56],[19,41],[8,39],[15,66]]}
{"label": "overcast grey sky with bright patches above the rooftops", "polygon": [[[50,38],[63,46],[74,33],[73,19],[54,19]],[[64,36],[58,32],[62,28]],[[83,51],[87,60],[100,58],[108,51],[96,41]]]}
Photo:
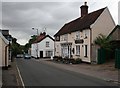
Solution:
{"label": "overcast grey sky with bright patches above the rooftops", "polygon": [[80,6],[85,1],[89,13],[107,6],[118,24],[120,0],[1,0],[0,29],[8,29],[21,45],[37,34],[33,27],[54,36],[65,23],[81,16]]}

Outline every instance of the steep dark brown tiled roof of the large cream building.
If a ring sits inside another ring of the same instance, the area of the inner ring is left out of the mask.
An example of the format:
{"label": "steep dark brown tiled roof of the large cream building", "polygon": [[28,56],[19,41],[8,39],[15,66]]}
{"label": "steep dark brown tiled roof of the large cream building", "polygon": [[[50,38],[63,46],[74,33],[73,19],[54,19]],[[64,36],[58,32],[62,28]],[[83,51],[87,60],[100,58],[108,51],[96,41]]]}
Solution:
{"label": "steep dark brown tiled roof of the large cream building", "polygon": [[90,28],[90,25],[97,20],[97,18],[100,16],[100,14],[104,11],[105,8],[91,12],[83,17],[79,17],[69,23],[66,23],[54,36],[59,36],[78,30],[82,31],[86,28]]}

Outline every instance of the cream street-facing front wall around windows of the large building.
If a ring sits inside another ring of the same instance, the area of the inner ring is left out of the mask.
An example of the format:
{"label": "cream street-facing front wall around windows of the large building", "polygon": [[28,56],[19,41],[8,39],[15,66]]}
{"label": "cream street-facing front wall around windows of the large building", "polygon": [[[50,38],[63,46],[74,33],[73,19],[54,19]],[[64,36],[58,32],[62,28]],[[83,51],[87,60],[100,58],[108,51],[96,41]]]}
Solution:
{"label": "cream street-facing front wall around windows of the large building", "polygon": [[[87,33],[86,39],[84,36],[85,33]],[[60,39],[62,39],[62,36],[60,36]],[[86,30],[83,30],[82,32],[80,32],[80,39],[83,39],[84,43],[75,44],[76,32],[72,32],[72,33],[68,34],[67,41],[63,41],[63,40],[62,41],[60,40],[59,42],[56,41],[55,42],[55,48],[56,48],[55,56],[61,56],[61,43],[72,43],[72,49],[74,48],[74,51],[75,51],[74,54],[72,52],[73,58],[74,59],[81,58],[82,61],[90,62],[90,29],[86,29]],[[76,45],[80,45],[80,56],[76,55]],[[88,57],[84,57],[84,45],[88,46],[88,51],[87,51]]]}

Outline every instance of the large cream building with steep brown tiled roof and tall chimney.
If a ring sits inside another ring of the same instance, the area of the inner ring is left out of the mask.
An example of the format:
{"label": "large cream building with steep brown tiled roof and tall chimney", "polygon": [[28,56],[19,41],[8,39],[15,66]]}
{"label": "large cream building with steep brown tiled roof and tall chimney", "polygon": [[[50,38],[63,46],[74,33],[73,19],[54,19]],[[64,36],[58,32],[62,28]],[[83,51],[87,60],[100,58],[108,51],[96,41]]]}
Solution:
{"label": "large cream building with steep brown tiled roof and tall chimney", "polygon": [[115,23],[107,7],[88,13],[87,2],[81,7],[81,16],[66,23],[55,35],[55,56],[80,58],[97,63],[94,40],[99,34],[108,36]]}

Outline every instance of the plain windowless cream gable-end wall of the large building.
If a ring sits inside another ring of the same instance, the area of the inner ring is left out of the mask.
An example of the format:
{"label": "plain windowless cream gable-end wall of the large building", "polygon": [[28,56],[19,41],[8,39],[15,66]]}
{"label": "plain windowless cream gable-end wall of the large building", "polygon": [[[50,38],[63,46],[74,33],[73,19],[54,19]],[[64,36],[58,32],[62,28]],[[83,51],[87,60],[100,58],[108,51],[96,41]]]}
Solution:
{"label": "plain windowless cream gable-end wall of the large building", "polygon": [[111,31],[115,28],[115,22],[108,10],[106,8],[103,13],[99,16],[96,22],[91,26],[92,28],[92,43],[101,33],[108,36]]}

